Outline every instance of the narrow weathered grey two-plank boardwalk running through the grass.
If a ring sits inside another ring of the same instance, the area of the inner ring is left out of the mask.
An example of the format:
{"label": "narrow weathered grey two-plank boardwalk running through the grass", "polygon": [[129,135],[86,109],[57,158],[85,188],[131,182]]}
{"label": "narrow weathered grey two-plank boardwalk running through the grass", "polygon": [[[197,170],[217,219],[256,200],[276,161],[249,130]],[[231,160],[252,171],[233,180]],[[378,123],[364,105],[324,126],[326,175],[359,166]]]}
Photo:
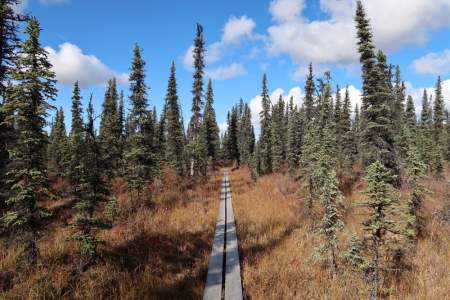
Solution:
{"label": "narrow weathered grey two-plank boardwalk running through the grass", "polygon": [[209,258],[204,300],[242,299],[241,268],[228,170],[220,192],[219,215]]}

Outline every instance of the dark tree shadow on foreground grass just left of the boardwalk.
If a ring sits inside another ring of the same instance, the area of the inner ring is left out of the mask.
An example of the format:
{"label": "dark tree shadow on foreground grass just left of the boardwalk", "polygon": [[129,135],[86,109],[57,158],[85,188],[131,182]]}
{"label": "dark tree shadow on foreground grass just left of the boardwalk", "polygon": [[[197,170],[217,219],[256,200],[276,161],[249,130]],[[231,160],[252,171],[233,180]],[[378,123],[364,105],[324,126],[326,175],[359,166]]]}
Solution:
{"label": "dark tree shadow on foreground grass just left of the boardwalk", "polygon": [[[108,250],[105,259],[134,280],[144,272],[158,280],[155,285],[139,285],[141,299],[199,299],[207,274],[212,247],[208,232],[141,234]],[[123,295],[125,296],[125,295]]]}

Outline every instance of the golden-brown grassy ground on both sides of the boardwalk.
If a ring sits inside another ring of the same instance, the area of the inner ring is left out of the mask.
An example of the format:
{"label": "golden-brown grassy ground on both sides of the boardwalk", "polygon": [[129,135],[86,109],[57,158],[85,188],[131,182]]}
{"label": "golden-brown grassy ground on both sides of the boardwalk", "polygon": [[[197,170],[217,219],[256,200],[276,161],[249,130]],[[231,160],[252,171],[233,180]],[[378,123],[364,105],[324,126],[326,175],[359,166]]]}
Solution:
{"label": "golden-brown grassy ground on both sides of the boardwalk", "polygon": [[[0,243],[0,299],[201,299],[219,204],[222,172],[201,185],[187,186],[167,174],[153,187],[151,203],[133,203],[117,179],[111,194],[118,200],[112,229],[102,230],[104,256],[87,271],[77,271],[76,245],[68,241],[74,215],[69,200],[42,204],[53,213],[39,240],[40,262],[33,272],[17,269],[19,249]],[[447,179],[450,179],[450,170]],[[319,206],[308,210],[300,183],[272,174],[254,182],[248,169],[230,172],[242,280],[246,299],[367,299],[367,285],[339,258],[333,280],[312,260],[320,244]],[[361,233],[362,181],[343,184],[345,229],[342,253],[350,233]],[[435,212],[450,203],[445,182],[424,181],[429,190],[425,229],[408,267],[386,277],[389,299],[446,299],[450,295],[450,224]],[[61,186],[58,189],[64,190]],[[402,190],[402,198],[408,195]],[[102,207],[99,211],[102,210]],[[448,299],[448,298],[447,298]]]}

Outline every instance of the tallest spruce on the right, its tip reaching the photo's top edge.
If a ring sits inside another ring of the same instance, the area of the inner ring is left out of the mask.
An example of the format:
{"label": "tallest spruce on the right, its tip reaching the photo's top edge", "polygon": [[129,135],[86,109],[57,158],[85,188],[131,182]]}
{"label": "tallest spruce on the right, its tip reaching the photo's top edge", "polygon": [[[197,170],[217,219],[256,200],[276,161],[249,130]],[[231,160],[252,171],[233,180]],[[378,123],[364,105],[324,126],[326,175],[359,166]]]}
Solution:
{"label": "tallest spruce on the right, its tip reaching the photo's top edge", "polygon": [[[361,1],[357,1],[355,21],[363,76],[360,125],[363,163],[368,166],[379,160],[394,175],[398,175],[400,169],[392,129],[389,66],[382,51],[375,56],[372,29]],[[400,184],[400,177],[395,178],[396,184]]]}

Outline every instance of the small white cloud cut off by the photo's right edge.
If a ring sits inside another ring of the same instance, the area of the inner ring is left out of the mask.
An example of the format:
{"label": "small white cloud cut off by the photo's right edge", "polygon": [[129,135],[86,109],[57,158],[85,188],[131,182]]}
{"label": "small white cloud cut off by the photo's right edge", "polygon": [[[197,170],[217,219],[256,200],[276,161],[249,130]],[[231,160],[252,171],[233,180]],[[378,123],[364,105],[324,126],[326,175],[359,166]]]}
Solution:
{"label": "small white cloud cut off by the photo's right edge", "polygon": [[450,49],[438,53],[429,53],[414,60],[411,66],[418,74],[447,74],[450,71]]}

